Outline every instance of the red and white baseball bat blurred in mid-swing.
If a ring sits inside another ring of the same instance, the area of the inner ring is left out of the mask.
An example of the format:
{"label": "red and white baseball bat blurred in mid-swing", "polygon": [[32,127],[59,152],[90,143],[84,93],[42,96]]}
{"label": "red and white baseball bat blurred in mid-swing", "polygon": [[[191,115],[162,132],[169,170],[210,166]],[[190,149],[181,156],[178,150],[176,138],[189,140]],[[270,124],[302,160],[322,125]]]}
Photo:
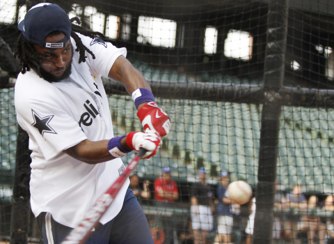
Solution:
{"label": "red and white baseball bat blurred in mid-swing", "polygon": [[113,199],[116,198],[120,188],[127,180],[127,177],[134,171],[138,162],[147,151],[144,148],[140,148],[138,153],[134,156],[132,161],[127,165],[125,171],[120,174],[117,180],[111,185],[111,187],[104,192],[104,194],[97,199],[95,205],[84,216],[84,219],[74,227],[70,234],[65,238],[61,244],[82,244],[91,234],[91,230],[99,222],[102,215],[106,212],[109,206],[112,204]]}

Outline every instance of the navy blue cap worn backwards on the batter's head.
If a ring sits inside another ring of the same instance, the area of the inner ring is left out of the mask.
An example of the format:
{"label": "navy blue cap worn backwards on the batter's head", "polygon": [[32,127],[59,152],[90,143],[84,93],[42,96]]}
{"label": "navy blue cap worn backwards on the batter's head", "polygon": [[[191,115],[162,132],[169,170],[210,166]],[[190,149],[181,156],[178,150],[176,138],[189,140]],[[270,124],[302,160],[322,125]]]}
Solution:
{"label": "navy blue cap worn backwards on the batter's head", "polygon": [[[63,8],[54,3],[38,3],[31,7],[17,28],[24,38],[40,47],[60,48],[71,37],[72,24]],[[65,38],[60,43],[45,43],[45,38],[53,31],[63,31]]]}

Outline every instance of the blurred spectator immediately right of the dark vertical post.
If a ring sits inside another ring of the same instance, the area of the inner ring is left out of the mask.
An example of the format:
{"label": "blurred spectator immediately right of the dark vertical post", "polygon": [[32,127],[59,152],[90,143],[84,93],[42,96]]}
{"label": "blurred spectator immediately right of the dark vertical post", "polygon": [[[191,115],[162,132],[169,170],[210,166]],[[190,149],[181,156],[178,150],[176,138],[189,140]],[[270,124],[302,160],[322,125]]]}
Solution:
{"label": "blurred spectator immediately right of the dark vertical post", "polygon": [[273,207],[276,212],[278,211],[280,213],[278,215],[275,215],[273,218],[273,239],[274,240],[280,239],[280,232],[282,231],[281,223],[283,222],[281,213],[283,210],[283,202],[286,202],[283,192],[280,192],[278,190],[279,185],[280,185],[279,181],[276,180],[275,182],[276,194],[275,194]]}

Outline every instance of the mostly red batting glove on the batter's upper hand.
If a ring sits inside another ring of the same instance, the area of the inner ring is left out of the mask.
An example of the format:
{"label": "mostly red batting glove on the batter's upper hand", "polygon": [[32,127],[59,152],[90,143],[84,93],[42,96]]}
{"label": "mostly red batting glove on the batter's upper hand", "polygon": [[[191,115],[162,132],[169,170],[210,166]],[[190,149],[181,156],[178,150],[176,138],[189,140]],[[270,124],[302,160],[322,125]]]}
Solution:
{"label": "mostly red batting glove on the batter's upper hand", "polygon": [[137,116],[143,125],[144,130],[154,130],[161,137],[168,134],[170,129],[169,116],[160,109],[155,102],[148,102],[137,112]]}

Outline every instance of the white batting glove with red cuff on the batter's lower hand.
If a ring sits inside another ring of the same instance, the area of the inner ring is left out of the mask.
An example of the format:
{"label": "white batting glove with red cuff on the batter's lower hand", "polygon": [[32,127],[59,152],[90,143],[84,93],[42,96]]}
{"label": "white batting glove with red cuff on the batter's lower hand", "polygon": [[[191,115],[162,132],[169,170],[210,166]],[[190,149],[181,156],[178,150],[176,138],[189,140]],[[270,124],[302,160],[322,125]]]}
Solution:
{"label": "white batting glove with red cuff on the batter's lower hand", "polygon": [[147,152],[143,158],[151,158],[157,154],[161,146],[161,137],[153,130],[146,130],[145,133],[130,132],[127,134],[127,146],[136,152],[139,151],[139,148],[144,148]]}

